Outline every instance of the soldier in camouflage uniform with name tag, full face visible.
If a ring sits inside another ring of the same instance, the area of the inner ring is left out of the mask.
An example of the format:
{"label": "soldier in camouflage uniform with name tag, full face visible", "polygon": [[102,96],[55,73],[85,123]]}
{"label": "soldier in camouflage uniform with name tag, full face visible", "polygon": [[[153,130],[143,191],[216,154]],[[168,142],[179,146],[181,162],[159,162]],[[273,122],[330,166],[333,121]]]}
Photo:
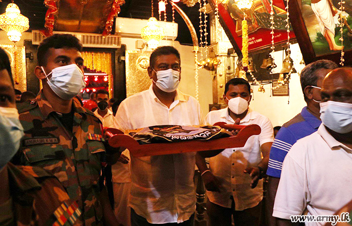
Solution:
{"label": "soldier in camouflage uniform with name tag, full face visible", "polygon": [[103,220],[116,225],[106,190],[99,185],[105,156],[102,124],[72,99],[85,86],[81,50],[72,35],[53,35],[38,47],[35,74],[43,89],[35,100],[18,105],[25,133],[20,159],[60,180],[82,210],[86,226],[102,225]]}

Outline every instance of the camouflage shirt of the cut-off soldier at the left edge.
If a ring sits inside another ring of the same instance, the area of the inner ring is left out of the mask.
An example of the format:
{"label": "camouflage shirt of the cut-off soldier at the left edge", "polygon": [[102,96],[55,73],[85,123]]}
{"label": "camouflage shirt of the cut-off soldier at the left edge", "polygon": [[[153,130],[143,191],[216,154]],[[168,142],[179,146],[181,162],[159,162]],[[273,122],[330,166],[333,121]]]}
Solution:
{"label": "camouflage shirt of the cut-off soldier at the left edge", "polygon": [[0,225],[82,225],[77,203],[69,199],[56,177],[39,167],[11,163],[5,167],[10,198],[0,203]]}

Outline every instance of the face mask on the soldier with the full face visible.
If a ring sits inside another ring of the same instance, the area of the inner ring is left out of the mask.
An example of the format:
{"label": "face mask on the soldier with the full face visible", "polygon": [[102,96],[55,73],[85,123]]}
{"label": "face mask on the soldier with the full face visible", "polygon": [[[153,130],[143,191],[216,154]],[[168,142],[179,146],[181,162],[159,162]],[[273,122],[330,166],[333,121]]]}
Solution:
{"label": "face mask on the soldier with the full face visible", "polygon": [[[76,64],[69,64],[52,69],[49,74],[45,73],[49,87],[62,99],[69,100],[76,96],[85,87],[84,76]],[[51,74],[51,78],[48,76]]]}

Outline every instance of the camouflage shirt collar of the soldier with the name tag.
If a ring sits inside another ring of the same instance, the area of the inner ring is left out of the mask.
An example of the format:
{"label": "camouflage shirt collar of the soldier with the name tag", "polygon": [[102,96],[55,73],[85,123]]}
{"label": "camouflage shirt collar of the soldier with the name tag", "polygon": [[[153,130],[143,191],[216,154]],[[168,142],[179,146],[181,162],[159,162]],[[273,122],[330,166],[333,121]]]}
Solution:
{"label": "camouflage shirt collar of the soldier with the name tag", "polygon": [[[49,101],[45,98],[43,90],[40,90],[36,97],[36,102],[38,103],[39,109],[42,112],[42,115],[44,116],[45,119],[48,118],[51,112],[56,112],[52,105],[49,103]],[[72,108],[75,113],[74,114],[76,117],[80,118],[81,114],[85,114],[84,108],[80,105],[78,100],[75,98],[72,99]]]}

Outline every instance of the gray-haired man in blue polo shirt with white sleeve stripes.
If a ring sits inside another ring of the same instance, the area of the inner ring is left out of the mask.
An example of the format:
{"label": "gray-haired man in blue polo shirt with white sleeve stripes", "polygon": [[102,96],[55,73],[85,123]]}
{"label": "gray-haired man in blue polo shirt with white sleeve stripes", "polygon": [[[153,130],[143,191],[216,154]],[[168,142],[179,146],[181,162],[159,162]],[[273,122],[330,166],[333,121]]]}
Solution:
{"label": "gray-haired man in blue polo shirt with white sleeve stripes", "polygon": [[297,140],[316,132],[321,124],[320,89],[327,73],[337,68],[329,60],[318,60],[308,64],[301,72],[301,86],[304,100],[307,103],[301,113],[285,123],[278,132],[272,148],[267,175],[269,175],[266,216],[270,226],[275,226],[279,219],[272,216],[275,195],[278,189],[282,164],[288,151]]}

